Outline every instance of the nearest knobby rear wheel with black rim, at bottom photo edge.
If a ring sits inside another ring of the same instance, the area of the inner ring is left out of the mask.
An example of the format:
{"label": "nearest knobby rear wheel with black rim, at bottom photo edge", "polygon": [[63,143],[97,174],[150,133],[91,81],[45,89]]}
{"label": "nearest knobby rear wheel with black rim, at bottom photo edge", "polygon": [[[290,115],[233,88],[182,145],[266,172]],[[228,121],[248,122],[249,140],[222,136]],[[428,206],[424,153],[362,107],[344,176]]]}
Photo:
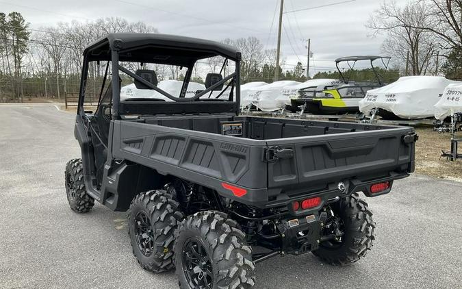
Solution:
{"label": "nearest knobby rear wheel with black rim, at bottom photo edge", "polygon": [[247,289],[255,284],[251,247],[238,223],[222,212],[198,212],[181,223],[175,234],[175,266],[181,289]]}

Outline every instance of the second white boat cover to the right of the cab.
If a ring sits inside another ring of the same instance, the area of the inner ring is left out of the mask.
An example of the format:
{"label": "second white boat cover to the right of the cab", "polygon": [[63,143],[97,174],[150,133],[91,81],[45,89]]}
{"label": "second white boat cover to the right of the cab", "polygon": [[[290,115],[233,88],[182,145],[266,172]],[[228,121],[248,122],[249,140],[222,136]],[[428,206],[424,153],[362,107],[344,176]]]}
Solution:
{"label": "second white boat cover to the right of the cab", "polygon": [[249,97],[253,97],[252,103],[257,108],[264,112],[274,112],[283,108],[276,101],[277,97],[282,95],[283,89],[297,84],[300,84],[300,82],[292,80],[274,81],[272,84],[253,88],[248,93]]}

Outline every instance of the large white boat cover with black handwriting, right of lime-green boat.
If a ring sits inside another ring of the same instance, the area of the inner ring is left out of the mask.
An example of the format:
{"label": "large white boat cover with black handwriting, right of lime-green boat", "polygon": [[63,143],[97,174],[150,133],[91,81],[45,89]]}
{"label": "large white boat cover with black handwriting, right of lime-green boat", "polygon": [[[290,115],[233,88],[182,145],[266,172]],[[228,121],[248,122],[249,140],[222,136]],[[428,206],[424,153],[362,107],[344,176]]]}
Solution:
{"label": "large white boat cover with black handwriting, right of lime-green boat", "polygon": [[359,101],[359,110],[368,115],[373,108],[381,108],[407,119],[433,117],[434,105],[444,88],[456,82],[440,76],[400,77],[392,84],[369,90]]}

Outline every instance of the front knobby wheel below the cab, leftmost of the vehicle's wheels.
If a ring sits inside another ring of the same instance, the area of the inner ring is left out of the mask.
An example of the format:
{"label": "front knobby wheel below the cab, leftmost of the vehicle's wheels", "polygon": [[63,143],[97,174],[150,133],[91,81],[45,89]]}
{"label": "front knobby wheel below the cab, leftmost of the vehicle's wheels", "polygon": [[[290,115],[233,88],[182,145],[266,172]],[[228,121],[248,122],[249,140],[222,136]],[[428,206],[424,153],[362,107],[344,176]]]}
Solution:
{"label": "front knobby wheel below the cab, leftmost of the vehicle's wheels", "polygon": [[89,212],[93,208],[94,199],[86,192],[82,160],[70,160],[66,164],[64,177],[70,209],[77,213]]}

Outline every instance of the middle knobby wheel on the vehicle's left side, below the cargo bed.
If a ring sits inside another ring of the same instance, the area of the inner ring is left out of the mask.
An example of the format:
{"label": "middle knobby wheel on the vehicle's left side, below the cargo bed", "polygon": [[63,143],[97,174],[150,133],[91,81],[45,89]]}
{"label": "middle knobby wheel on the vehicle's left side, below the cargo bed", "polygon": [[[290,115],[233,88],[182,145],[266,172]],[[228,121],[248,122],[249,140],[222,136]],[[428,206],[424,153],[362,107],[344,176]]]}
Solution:
{"label": "middle knobby wheel on the vehicle's left side, below the cargo bed", "polygon": [[144,270],[159,273],[175,266],[174,232],[183,220],[178,206],[164,190],[142,192],[131,201],[128,213],[131,248]]}

